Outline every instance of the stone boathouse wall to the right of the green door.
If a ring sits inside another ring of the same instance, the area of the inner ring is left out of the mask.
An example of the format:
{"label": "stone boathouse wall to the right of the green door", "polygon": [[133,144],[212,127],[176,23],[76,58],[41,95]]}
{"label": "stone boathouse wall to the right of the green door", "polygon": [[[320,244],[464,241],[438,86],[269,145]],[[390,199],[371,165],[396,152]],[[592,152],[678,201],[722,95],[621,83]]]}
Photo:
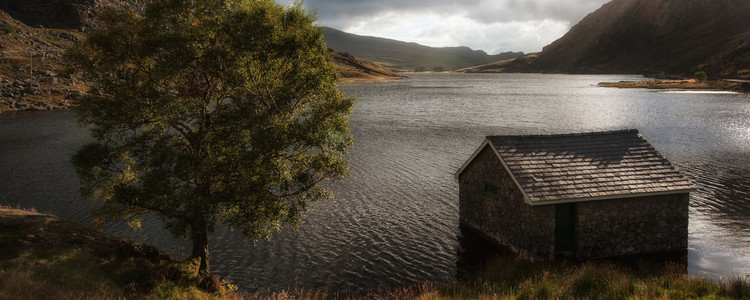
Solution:
{"label": "stone boathouse wall to the right of the green door", "polygon": [[607,257],[687,250],[689,194],[576,204],[576,254]]}

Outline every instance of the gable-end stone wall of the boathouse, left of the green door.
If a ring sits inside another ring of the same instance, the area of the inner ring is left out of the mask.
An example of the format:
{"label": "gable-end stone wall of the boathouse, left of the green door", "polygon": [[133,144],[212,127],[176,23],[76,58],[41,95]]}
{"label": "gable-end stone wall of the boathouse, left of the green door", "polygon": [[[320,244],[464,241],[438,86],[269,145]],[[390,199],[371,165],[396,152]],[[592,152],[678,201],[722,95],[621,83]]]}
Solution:
{"label": "gable-end stone wall of the boathouse, left of the green door", "polygon": [[[485,194],[485,183],[497,187]],[[532,261],[554,257],[555,207],[532,207],[490,147],[459,177],[461,224]]]}

